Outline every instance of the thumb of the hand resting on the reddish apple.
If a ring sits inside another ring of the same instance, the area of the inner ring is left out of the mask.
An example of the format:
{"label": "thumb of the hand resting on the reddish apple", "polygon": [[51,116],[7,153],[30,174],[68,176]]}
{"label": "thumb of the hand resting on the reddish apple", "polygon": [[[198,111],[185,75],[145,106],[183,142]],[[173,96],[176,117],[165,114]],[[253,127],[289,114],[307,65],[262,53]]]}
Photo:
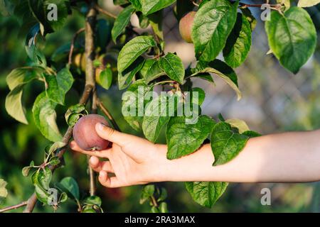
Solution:
{"label": "thumb of the hand resting on the reddish apple", "polygon": [[103,123],[97,123],[95,125],[95,131],[101,138],[109,140],[112,143],[117,143],[120,147],[129,143],[133,136],[115,131],[113,128],[105,126]]}

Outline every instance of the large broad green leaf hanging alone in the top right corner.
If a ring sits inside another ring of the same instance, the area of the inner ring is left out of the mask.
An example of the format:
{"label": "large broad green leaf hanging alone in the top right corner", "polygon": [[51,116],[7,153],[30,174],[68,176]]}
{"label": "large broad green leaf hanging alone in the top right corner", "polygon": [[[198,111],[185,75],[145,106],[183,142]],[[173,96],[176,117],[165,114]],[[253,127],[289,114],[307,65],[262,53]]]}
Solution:
{"label": "large broad green leaf hanging alone in the top right corner", "polygon": [[294,74],[314,53],[316,28],[304,9],[292,7],[283,15],[272,11],[265,30],[272,52],[281,65]]}

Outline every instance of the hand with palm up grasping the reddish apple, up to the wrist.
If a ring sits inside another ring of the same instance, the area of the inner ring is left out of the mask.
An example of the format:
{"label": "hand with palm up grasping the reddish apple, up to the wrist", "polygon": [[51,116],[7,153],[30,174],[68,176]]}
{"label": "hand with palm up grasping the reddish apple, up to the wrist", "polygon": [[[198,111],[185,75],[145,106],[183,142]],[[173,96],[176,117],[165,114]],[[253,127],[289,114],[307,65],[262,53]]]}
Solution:
{"label": "hand with palm up grasping the reddish apple, up to the wrist", "polygon": [[[166,145],[154,143],[134,135],[120,133],[97,123],[97,134],[112,142],[112,148],[101,151],[85,151],[75,141],[70,148],[86,155],[92,155],[90,166],[99,172],[99,181],[105,187],[124,187],[134,184],[161,181],[161,167],[166,160]],[[100,161],[105,157],[108,161]],[[114,173],[109,177],[107,173]]]}

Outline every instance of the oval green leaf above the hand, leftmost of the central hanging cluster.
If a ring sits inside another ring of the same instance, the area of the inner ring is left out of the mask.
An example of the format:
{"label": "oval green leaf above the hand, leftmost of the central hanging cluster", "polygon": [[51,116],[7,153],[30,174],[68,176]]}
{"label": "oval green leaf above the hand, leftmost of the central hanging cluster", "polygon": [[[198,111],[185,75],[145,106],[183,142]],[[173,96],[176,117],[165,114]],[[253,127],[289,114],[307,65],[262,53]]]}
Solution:
{"label": "oval green leaf above the hand, leftmost of the central hanging cluster", "polygon": [[[122,95],[122,114],[127,123],[136,131],[142,128],[144,106],[147,104],[144,96],[146,92],[151,91],[151,89],[152,87],[147,86],[143,79],[139,79],[130,85],[127,92],[124,92]],[[141,113],[139,113],[139,109]]]}

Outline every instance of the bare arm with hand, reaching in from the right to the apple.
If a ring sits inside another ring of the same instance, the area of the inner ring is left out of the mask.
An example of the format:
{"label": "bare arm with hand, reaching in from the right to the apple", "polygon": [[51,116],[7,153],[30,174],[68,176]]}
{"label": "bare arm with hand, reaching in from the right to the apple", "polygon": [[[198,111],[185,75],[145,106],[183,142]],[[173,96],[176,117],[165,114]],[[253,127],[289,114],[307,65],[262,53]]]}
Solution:
{"label": "bare arm with hand, reaching in from the right to the apple", "polygon": [[[134,135],[97,125],[97,133],[112,141],[100,152],[73,150],[96,156],[90,165],[106,187],[148,182],[313,182],[320,180],[320,131],[282,133],[251,138],[244,150],[225,165],[212,166],[210,145],[177,160],[166,159],[166,145],[154,145]],[[97,157],[107,157],[102,162]],[[116,177],[108,177],[113,172]]]}

